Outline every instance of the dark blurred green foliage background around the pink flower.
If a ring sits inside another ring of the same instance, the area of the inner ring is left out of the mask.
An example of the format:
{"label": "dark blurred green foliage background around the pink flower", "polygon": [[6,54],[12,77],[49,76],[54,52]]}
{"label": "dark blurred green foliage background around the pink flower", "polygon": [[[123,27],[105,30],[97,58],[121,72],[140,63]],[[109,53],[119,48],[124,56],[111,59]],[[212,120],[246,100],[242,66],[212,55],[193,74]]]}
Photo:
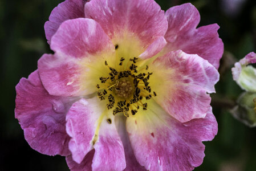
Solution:
{"label": "dark blurred green foliage background around the pink flower", "polygon": [[[256,1],[243,0],[235,15],[224,7],[225,0],[157,0],[162,9],[191,2],[201,14],[200,26],[218,23],[225,44],[220,82],[212,95],[218,135],[205,142],[205,158],[195,170],[256,170],[256,129],[246,127],[230,115],[242,90],[231,77],[230,68],[248,52],[256,52]],[[37,60],[50,48],[44,36],[44,22],[62,1],[0,1],[1,101],[0,170],[68,170],[64,157],[46,156],[32,150],[14,119],[15,85],[36,70]],[[231,2],[231,1],[230,1]]]}

